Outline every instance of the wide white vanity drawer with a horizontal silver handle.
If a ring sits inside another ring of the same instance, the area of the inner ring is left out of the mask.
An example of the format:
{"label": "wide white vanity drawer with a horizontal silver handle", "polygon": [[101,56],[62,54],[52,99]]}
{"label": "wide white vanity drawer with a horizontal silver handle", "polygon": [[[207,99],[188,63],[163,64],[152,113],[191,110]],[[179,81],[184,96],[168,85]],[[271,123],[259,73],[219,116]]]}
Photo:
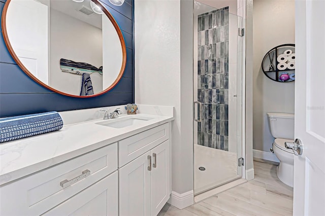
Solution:
{"label": "wide white vanity drawer with a horizontal silver handle", "polygon": [[42,214],[115,170],[117,143],[0,187],[0,215]]}

